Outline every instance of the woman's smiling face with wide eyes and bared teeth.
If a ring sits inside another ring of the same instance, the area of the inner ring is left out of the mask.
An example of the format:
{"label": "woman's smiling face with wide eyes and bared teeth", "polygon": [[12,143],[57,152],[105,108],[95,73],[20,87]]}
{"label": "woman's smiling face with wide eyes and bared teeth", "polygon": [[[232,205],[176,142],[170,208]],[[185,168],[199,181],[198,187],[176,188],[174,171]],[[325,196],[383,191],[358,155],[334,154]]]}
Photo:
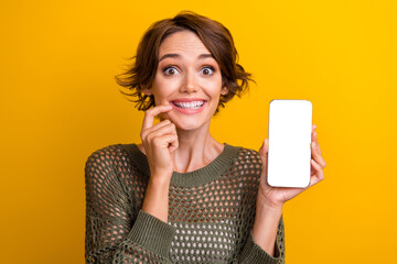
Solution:
{"label": "woman's smiling face with wide eyes and bared teeth", "polygon": [[219,65],[196,34],[181,31],[169,35],[159,48],[159,65],[151,88],[155,106],[173,106],[162,113],[176,129],[195,130],[210,125],[219,102],[227,94],[222,87]]}

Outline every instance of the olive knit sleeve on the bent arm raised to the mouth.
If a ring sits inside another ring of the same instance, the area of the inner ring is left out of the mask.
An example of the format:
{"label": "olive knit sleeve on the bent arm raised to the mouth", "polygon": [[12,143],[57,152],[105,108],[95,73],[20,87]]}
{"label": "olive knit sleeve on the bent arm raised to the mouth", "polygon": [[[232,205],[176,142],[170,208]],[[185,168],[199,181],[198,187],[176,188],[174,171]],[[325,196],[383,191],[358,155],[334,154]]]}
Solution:
{"label": "olive knit sleeve on the bent arm raised to the mouth", "polygon": [[111,150],[104,147],[85,165],[86,263],[171,263],[175,229],[142,210],[132,216],[114,162]]}

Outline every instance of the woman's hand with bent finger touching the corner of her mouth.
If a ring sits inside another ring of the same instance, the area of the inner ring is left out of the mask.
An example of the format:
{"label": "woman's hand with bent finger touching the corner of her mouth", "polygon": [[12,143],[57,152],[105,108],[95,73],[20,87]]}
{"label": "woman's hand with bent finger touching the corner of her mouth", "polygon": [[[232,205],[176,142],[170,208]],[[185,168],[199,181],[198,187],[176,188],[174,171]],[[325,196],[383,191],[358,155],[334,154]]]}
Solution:
{"label": "woman's hand with bent finger touching the corner of her mouth", "polygon": [[155,116],[171,109],[172,106],[158,106],[144,112],[140,136],[148,157],[151,176],[168,175],[171,178],[173,173],[171,153],[179,146],[175,124],[170,120],[163,120],[153,125]]}

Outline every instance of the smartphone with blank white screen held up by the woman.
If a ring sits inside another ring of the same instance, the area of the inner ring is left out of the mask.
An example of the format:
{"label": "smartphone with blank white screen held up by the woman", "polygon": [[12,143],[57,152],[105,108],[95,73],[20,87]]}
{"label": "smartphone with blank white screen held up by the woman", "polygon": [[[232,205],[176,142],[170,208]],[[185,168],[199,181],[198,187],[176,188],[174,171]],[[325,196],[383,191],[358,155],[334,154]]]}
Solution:
{"label": "smartphone with blank white screen held up by the woman", "polygon": [[309,100],[269,103],[267,182],[273,187],[308,187],[313,107]]}

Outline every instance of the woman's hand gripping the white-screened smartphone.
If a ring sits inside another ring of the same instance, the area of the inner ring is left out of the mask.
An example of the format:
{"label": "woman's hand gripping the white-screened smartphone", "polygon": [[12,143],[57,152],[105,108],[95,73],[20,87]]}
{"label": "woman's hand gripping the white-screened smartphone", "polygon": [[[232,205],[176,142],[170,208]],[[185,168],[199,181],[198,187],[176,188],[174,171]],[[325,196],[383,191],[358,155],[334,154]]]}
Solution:
{"label": "woman's hand gripping the white-screened smartphone", "polygon": [[266,206],[269,208],[279,209],[283,204],[293,197],[298,196],[303,190],[320,183],[324,179],[322,169],[325,167],[325,161],[321,156],[321,150],[316,138],[315,124],[312,127],[312,142],[311,142],[311,175],[310,184],[305,188],[290,188],[290,187],[271,187],[267,183],[267,161],[268,161],[268,140],[265,139],[264,144],[259,150],[262,161],[262,172],[259,180],[257,208]]}

